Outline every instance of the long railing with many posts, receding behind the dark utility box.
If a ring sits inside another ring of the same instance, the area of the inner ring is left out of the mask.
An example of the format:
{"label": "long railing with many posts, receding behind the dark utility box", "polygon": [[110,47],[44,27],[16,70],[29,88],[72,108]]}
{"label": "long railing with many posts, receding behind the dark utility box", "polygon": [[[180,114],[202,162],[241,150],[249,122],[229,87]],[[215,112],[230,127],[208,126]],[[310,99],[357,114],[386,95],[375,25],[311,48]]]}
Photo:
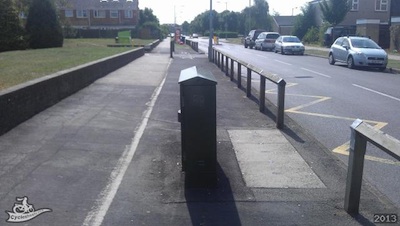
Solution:
{"label": "long railing with many posts, receding behind the dark utility box", "polygon": [[[247,62],[244,62],[238,58],[228,55],[221,50],[213,48],[213,61],[221,68],[221,71],[225,72],[226,76],[229,76],[231,81],[234,80],[234,63],[237,63],[237,87],[242,88],[242,66],[247,68],[247,84],[246,84],[246,96],[251,97],[251,78],[252,72],[257,73],[260,76],[260,92],[259,92],[259,108],[260,112],[265,110],[265,82],[266,79],[275,83],[278,86],[278,102],[277,102],[277,115],[276,115],[276,127],[282,129],[284,125],[284,111],[285,111],[285,87],[286,82],[277,75],[269,74],[260,68],[257,68]],[[225,59],[224,59],[225,58]],[[225,62],[224,62],[225,60]],[[230,68],[229,68],[230,60]]]}

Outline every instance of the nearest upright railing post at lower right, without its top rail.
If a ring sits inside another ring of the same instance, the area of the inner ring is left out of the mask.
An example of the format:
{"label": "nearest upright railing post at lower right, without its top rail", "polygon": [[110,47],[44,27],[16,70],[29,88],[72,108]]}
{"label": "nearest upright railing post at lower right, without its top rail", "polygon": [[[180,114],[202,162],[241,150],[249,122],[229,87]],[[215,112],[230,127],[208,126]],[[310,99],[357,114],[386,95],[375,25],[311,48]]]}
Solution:
{"label": "nearest upright railing post at lower right, without its top rail", "polygon": [[347,170],[344,209],[349,214],[358,214],[360,206],[361,183],[364,170],[364,156],[367,139],[355,129],[362,123],[357,119],[351,125],[350,155]]}

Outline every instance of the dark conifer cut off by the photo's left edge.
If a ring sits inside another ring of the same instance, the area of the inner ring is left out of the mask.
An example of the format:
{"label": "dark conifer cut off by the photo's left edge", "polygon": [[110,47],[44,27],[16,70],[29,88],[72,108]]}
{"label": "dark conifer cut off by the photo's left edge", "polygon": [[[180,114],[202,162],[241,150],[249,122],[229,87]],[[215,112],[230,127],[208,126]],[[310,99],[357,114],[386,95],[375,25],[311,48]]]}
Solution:
{"label": "dark conifer cut off by the photo's left edge", "polygon": [[13,0],[0,0],[0,52],[25,48],[24,31]]}

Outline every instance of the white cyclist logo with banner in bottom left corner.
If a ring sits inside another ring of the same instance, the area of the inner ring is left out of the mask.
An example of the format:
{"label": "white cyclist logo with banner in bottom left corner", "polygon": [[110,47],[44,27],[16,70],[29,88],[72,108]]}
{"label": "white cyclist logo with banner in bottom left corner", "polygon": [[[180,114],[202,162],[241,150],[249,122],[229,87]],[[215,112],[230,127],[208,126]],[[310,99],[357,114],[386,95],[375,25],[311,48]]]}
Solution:
{"label": "white cyclist logo with banner in bottom left corner", "polygon": [[[17,197],[17,202],[14,203],[12,212],[6,211],[8,214],[7,222],[10,223],[20,223],[32,220],[33,218],[39,216],[42,213],[51,212],[51,209],[44,208],[35,210],[33,205],[28,203],[28,197],[24,196],[22,198]],[[21,202],[21,203],[18,203]]]}

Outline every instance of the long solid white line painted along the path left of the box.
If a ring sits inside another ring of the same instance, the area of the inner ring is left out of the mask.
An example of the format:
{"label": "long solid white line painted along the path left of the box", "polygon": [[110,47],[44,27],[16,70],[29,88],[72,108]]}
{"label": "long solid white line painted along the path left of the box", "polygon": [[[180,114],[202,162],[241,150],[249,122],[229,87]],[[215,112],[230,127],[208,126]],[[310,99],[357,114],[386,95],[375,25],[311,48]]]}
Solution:
{"label": "long solid white line painted along the path left of the box", "polygon": [[[168,67],[170,65],[171,61],[169,62]],[[107,214],[108,208],[110,208],[110,205],[114,200],[122,179],[124,178],[126,170],[128,169],[128,166],[131,163],[133,156],[135,155],[136,149],[139,145],[139,141],[143,136],[144,130],[146,129],[147,123],[149,121],[149,117],[151,115],[151,112],[153,111],[154,104],[157,101],[158,96],[160,95],[162,87],[164,86],[165,79],[166,76],[162,80],[160,85],[154,90],[153,95],[150,98],[150,103],[148,104],[148,107],[144,112],[143,120],[136,130],[135,136],[133,137],[130,148],[126,148],[122,156],[119,158],[116,167],[111,172],[107,186],[100,193],[100,197],[96,200],[95,205],[86,216],[85,221],[82,225],[100,226],[102,224],[104,217]]]}

